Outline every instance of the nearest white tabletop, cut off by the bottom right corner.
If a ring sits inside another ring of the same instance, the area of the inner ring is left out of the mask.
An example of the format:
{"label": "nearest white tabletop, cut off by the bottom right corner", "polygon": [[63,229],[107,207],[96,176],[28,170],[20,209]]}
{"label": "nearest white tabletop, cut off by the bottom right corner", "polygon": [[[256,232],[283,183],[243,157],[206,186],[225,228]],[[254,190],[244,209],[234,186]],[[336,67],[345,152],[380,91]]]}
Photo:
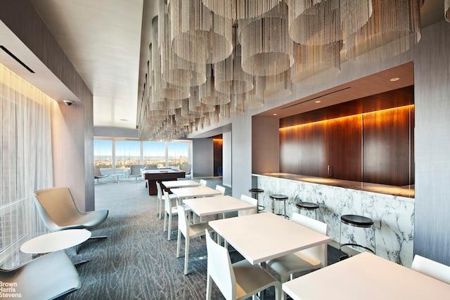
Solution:
{"label": "nearest white tabletop, cut off by the bottom right corner", "polygon": [[283,283],[294,300],[449,299],[450,285],[363,252]]}

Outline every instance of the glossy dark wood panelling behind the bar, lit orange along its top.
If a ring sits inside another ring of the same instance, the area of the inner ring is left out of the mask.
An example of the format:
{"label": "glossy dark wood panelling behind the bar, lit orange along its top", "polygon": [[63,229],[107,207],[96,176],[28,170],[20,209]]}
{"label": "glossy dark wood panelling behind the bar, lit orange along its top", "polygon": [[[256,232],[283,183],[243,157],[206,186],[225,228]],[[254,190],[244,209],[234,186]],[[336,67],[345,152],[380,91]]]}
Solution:
{"label": "glossy dark wood panelling behind the bar, lit orange along its top", "polygon": [[413,184],[413,105],[280,129],[280,171]]}

